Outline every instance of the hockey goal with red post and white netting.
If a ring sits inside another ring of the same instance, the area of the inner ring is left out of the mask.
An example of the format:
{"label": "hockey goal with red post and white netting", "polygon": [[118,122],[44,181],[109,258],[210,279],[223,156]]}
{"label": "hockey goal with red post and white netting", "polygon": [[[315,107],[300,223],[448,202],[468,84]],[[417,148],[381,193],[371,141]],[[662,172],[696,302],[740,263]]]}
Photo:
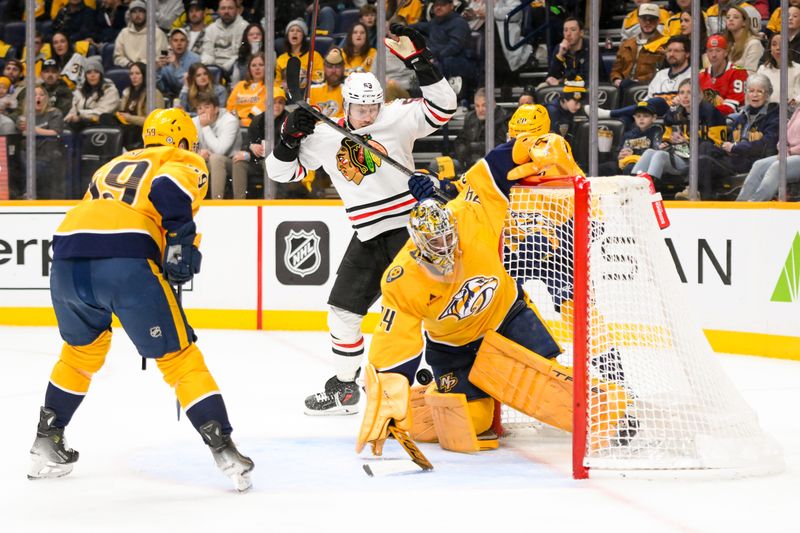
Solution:
{"label": "hockey goal with red post and white netting", "polygon": [[[512,190],[505,266],[563,348],[559,362],[574,369],[573,474],[779,470],[780,450],[690,318],[650,187],[619,176]],[[610,427],[603,415],[619,409],[604,403],[604,383],[627,396]],[[505,431],[534,423],[502,409]]]}

